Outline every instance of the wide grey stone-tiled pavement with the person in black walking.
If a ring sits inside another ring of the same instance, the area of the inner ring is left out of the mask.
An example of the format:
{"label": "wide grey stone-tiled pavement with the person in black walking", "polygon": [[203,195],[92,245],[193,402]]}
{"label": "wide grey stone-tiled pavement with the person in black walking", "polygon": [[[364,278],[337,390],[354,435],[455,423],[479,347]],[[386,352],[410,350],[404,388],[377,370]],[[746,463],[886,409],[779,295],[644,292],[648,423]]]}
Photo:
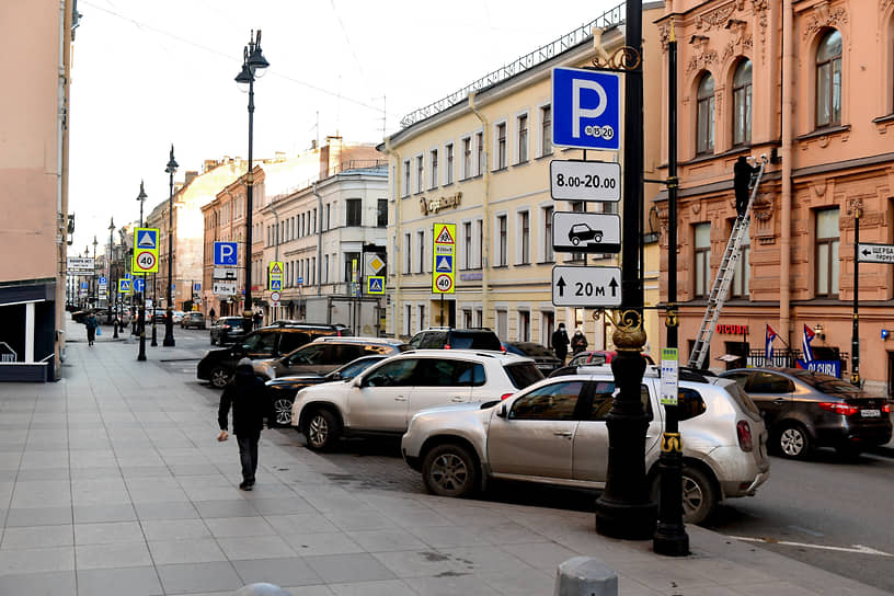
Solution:
{"label": "wide grey stone-tiled pavement with the person in black walking", "polygon": [[884,594],[699,527],[691,555],[665,558],[597,535],[592,513],[355,482],[288,428],[264,432],[242,492],[219,392],[161,362],[187,358],[138,363],[104,333],[68,344],[59,382],[0,385],[0,594],[546,596],[577,555],[614,568],[623,596]]}

